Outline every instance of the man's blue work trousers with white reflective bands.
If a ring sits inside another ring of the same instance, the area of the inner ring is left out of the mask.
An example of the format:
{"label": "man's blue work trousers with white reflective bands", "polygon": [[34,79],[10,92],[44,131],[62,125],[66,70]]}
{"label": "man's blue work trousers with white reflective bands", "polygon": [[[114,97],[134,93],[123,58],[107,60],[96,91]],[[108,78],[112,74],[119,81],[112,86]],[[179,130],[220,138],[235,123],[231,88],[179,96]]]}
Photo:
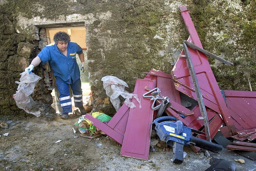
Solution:
{"label": "man's blue work trousers with white reflective bands", "polygon": [[[68,83],[64,82],[60,77],[56,76],[56,85],[60,92],[60,105],[63,109],[62,113],[70,113],[72,112],[72,103],[71,97],[69,94],[69,87]],[[81,89],[81,80],[80,78],[69,84],[74,97],[75,107],[82,107],[83,106],[83,92]]]}

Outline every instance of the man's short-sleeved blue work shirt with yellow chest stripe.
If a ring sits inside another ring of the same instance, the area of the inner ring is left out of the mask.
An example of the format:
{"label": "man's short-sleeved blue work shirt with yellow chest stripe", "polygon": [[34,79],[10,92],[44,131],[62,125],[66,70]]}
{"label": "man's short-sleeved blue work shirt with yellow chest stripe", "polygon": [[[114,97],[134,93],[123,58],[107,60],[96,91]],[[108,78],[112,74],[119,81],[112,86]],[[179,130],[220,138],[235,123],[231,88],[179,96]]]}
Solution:
{"label": "man's short-sleeved blue work shirt with yellow chest stripe", "polygon": [[[60,77],[64,82],[71,84],[80,78],[80,70],[76,63],[76,53],[83,53],[82,48],[74,42],[68,42],[68,52],[65,56],[55,43],[45,46],[38,57],[43,63],[49,61],[53,75]],[[72,78],[72,81],[71,81]]]}

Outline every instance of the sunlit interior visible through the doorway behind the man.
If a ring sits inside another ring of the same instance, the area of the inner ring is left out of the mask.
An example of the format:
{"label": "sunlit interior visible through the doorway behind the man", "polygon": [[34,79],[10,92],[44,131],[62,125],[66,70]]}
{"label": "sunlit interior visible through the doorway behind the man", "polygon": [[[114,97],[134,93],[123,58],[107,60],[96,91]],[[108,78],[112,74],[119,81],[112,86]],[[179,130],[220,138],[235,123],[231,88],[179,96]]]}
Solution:
{"label": "sunlit interior visible through the doorway behind the man", "polygon": [[[87,53],[86,53],[87,48],[86,48],[86,41],[85,41],[86,40],[86,37],[85,37],[86,30],[83,27],[66,27],[66,28],[47,29],[47,33],[48,33],[47,35],[48,35],[49,39],[51,40],[51,42],[49,42],[49,43],[54,43],[53,36],[55,35],[55,33],[59,32],[59,31],[64,31],[64,32],[68,33],[68,35],[70,36],[71,42],[77,43],[83,49],[84,60],[85,60],[85,70],[84,70],[84,73],[82,73],[82,71],[80,71],[80,75],[81,75],[80,78],[81,78],[82,90],[83,90],[83,103],[85,106],[89,101],[89,97],[90,97],[90,93],[91,93],[91,87],[88,82],[89,74],[88,74],[88,67],[87,67]],[[76,54],[76,61],[80,68],[81,61],[77,54]],[[56,113],[60,113],[59,109],[58,109],[58,108],[60,108],[60,106],[57,105],[56,94],[55,94],[54,89],[52,90],[52,96],[55,97],[53,103],[55,103]],[[76,110],[75,104],[74,104],[74,98],[72,97],[71,100],[72,100],[72,110],[74,111],[74,110]]]}

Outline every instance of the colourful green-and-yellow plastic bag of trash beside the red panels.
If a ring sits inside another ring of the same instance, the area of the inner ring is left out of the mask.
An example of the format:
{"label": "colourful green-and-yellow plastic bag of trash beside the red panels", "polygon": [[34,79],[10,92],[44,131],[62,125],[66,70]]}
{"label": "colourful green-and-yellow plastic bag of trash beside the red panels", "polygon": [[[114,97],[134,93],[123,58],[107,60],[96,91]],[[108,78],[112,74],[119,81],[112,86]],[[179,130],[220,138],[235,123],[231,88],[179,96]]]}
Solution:
{"label": "colourful green-and-yellow plastic bag of trash beside the red panels", "polygon": [[[107,124],[109,120],[112,119],[112,117],[106,115],[105,113],[100,113],[100,112],[94,112],[92,113],[92,116],[105,124]],[[76,130],[74,128],[76,125],[79,125],[79,131],[81,132],[81,134],[86,133],[87,135],[92,136],[93,134],[98,134],[101,132],[100,129],[92,125],[92,122],[90,120],[84,117],[85,115],[79,117],[76,123],[74,124],[73,126],[74,133],[76,133]]]}

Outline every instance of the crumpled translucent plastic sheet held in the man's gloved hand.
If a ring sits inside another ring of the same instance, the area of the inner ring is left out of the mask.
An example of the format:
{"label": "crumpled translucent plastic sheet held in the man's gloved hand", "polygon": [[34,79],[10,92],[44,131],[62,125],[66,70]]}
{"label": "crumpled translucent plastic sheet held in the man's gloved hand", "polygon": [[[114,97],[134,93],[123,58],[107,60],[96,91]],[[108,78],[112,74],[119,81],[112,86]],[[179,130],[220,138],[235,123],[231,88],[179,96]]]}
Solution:
{"label": "crumpled translucent plastic sheet held in the man's gloved hand", "polygon": [[12,95],[12,97],[20,109],[39,117],[40,111],[29,112],[28,109],[36,104],[30,95],[34,93],[34,88],[41,77],[32,72],[29,74],[28,71],[20,73],[20,75],[20,82],[15,82],[19,84],[17,88],[18,91],[16,91],[16,94]]}

